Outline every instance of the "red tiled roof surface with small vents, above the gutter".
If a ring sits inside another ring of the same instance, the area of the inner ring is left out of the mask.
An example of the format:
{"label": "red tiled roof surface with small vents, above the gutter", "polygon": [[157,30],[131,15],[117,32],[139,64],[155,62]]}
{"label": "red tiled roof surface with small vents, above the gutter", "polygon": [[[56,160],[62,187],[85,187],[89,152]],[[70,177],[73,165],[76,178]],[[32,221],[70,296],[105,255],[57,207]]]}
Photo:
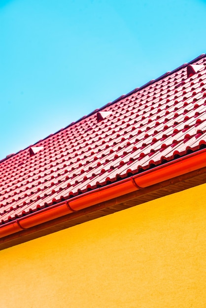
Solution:
{"label": "red tiled roof surface with small vents, above the gutter", "polygon": [[0,224],[206,148],[205,67],[201,55],[8,155]]}

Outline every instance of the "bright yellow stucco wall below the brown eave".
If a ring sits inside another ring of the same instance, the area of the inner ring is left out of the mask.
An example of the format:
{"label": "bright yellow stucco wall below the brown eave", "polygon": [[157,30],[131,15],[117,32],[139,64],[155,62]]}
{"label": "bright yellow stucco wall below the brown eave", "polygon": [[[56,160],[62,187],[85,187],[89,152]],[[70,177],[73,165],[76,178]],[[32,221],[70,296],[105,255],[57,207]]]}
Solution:
{"label": "bright yellow stucco wall below the brown eave", "polygon": [[205,308],[206,185],[0,251],[0,308]]}

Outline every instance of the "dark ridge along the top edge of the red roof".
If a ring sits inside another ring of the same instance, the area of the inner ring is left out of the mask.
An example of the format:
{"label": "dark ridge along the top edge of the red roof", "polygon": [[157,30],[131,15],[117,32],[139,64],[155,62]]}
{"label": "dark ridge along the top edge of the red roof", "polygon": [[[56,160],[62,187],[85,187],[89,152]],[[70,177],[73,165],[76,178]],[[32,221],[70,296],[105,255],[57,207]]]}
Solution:
{"label": "dark ridge along the top edge of the red roof", "polygon": [[70,126],[72,126],[72,125],[74,125],[74,124],[76,124],[76,123],[78,123],[78,122],[80,122],[80,121],[82,121],[83,119],[86,119],[86,118],[88,118],[88,117],[94,115],[94,114],[97,113],[97,112],[100,112],[100,111],[103,110],[105,107],[108,107],[108,106],[110,106],[110,105],[112,105],[112,104],[118,102],[119,100],[121,100],[121,99],[123,99],[123,98],[126,98],[126,97],[130,96],[131,94],[136,93],[136,92],[138,92],[138,91],[140,91],[140,90],[142,90],[142,89],[148,87],[149,85],[154,84],[155,82],[157,82],[157,81],[163,79],[164,77],[167,77],[167,76],[169,76],[169,75],[172,75],[173,73],[175,73],[175,72],[178,71],[179,69],[184,68],[184,67],[186,67],[187,65],[192,64],[192,63],[194,63],[194,62],[196,62],[196,61],[198,61],[198,60],[200,60],[200,59],[203,59],[203,58],[205,58],[205,57],[206,57],[206,54],[201,54],[200,56],[198,56],[197,58],[193,59],[192,61],[186,62],[186,63],[184,63],[184,64],[178,66],[177,68],[173,69],[172,71],[168,71],[168,72],[166,72],[165,74],[161,75],[160,77],[158,77],[158,78],[156,78],[156,79],[152,79],[152,80],[150,80],[149,82],[147,82],[146,84],[144,84],[144,85],[142,85],[142,86],[140,86],[140,87],[138,87],[138,88],[135,88],[134,90],[130,91],[129,93],[123,94],[123,95],[119,96],[119,97],[116,98],[115,100],[113,100],[113,101],[111,101],[111,102],[109,102],[109,103],[103,105],[103,107],[98,108],[98,109],[95,109],[94,111],[92,111],[92,112],[89,113],[88,115],[85,115],[85,116],[81,117],[80,119],[76,120],[75,122],[69,123],[66,127],[63,127],[63,128],[61,128],[61,129],[59,129],[59,130],[56,131],[55,133],[50,134],[50,135],[46,136],[45,138],[36,141],[33,145],[30,145],[30,146],[26,147],[25,149],[22,149],[22,150],[20,150],[20,151],[14,153],[14,154],[9,154],[9,155],[7,155],[5,158],[3,158],[3,159],[0,160],[0,163],[3,162],[3,161],[5,161],[5,160],[7,160],[7,159],[10,158],[11,156],[13,157],[13,156],[16,155],[16,154],[21,153],[22,151],[25,151],[25,150],[27,150],[27,149],[29,149],[29,148],[31,148],[31,147],[34,147],[37,143],[39,143],[39,141],[46,140],[47,138],[49,138],[49,137],[51,137],[51,136],[54,136],[54,135],[58,134],[60,131],[66,129],[66,128],[68,128],[68,127],[70,127]]}

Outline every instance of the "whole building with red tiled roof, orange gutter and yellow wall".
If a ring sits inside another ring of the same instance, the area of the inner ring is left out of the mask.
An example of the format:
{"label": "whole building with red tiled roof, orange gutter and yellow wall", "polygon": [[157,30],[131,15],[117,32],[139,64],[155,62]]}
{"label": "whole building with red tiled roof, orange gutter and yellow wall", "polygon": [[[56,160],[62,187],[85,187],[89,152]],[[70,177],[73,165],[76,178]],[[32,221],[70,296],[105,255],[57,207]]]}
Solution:
{"label": "whole building with red tiled roof, orange gutter and yellow wall", "polygon": [[0,162],[1,307],[205,307],[206,57]]}

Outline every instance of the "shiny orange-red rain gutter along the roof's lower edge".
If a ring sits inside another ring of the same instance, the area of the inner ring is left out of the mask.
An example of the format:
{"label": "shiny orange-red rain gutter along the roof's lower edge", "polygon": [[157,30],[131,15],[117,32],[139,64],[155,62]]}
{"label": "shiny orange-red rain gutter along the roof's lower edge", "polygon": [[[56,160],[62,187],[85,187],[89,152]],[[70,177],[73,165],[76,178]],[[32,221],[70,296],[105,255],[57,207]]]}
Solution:
{"label": "shiny orange-red rain gutter along the roof's lower edge", "polygon": [[203,167],[206,167],[206,149],[188,154],[128,179],[86,192],[83,195],[72,198],[70,201],[66,200],[27,216],[17,218],[0,226],[0,238]]}

